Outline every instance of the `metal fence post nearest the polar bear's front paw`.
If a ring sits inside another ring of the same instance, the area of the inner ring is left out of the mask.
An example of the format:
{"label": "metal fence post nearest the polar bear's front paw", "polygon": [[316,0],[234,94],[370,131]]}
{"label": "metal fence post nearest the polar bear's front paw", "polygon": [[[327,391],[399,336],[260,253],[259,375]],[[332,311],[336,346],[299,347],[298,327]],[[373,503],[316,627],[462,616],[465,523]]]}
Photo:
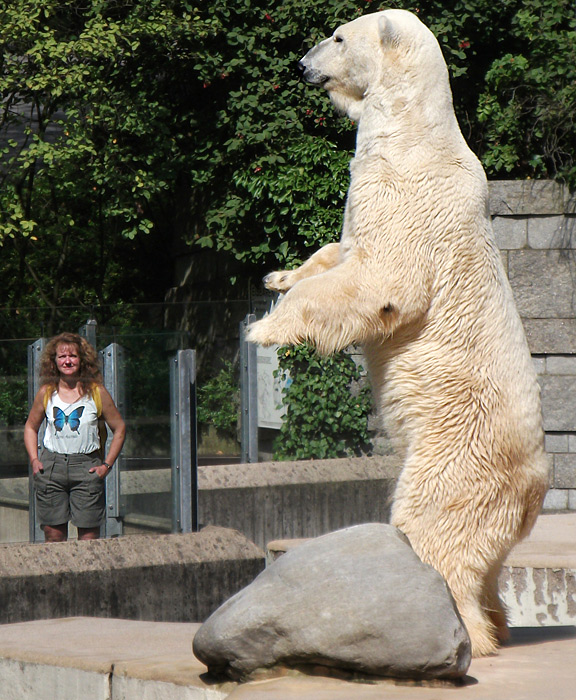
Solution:
{"label": "metal fence post nearest the polar bear's front paw", "polygon": [[258,358],[256,345],[246,340],[248,326],[256,320],[248,314],[240,324],[240,409],[242,462],[258,461]]}

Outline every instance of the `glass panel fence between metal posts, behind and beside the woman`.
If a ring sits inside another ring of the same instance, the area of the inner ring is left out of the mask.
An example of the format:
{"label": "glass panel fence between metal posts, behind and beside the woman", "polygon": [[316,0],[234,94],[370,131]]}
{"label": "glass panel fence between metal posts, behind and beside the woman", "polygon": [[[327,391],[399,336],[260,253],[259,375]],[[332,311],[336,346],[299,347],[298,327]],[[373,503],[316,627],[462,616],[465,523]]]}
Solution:
{"label": "glass panel fence between metal posts, behind and beside the woman", "polygon": [[[240,461],[238,329],[245,311],[244,302],[199,304],[187,311],[194,319],[191,332],[119,331],[98,324],[90,328],[103,360],[111,345],[121,348],[121,391],[116,398],[121,399],[127,438],[115,470],[122,534],[172,529],[170,361],[178,350],[197,349],[199,464]],[[29,401],[28,350],[41,335],[0,339],[0,543],[30,539],[23,427]],[[70,537],[75,536],[71,527]]]}

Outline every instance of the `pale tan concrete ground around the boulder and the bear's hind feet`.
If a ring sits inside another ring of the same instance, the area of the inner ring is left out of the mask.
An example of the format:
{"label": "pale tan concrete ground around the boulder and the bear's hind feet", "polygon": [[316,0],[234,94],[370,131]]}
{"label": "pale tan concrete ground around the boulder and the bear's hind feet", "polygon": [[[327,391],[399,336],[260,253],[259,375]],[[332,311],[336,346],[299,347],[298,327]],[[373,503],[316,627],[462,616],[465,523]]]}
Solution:
{"label": "pale tan concrete ground around the boulder and the bear's hind feet", "polygon": [[[511,560],[576,569],[576,514],[543,516]],[[302,676],[213,685],[192,655],[198,626],[98,618],[1,625],[0,698],[576,700],[576,626],[513,630],[511,644],[498,656],[475,659],[458,688]]]}

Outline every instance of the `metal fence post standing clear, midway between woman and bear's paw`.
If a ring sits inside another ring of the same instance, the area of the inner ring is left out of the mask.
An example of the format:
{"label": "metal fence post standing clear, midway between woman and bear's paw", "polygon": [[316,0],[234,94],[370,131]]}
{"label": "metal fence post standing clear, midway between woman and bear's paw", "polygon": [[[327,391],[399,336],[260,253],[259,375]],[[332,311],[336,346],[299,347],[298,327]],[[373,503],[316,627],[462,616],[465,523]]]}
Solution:
{"label": "metal fence post standing clear, midway between woman and bear's paw", "polygon": [[170,361],[172,531],[198,530],[196,351],[178,350]]}

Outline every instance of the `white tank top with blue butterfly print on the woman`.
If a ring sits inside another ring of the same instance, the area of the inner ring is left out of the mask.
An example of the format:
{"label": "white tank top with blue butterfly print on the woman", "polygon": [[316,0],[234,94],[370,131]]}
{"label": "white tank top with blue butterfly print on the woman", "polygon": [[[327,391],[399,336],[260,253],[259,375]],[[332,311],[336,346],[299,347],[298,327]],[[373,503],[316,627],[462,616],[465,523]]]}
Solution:
{"label": "white tank top with blue butterfly print on the woman", "polygon": [[64,403],[55,391],[46,404],[44,447],[60,454],[90,454],[100,449],[98,411],[90,394]]}

